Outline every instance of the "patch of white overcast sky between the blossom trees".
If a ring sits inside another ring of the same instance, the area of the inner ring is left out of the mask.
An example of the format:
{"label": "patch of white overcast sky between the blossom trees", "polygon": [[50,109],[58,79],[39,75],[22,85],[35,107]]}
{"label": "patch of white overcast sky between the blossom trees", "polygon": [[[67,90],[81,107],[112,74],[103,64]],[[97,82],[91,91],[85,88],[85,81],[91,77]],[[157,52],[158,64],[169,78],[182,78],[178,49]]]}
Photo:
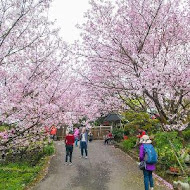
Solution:
{"label": "patch of white overcast sky between the blossom trees", "polygon": [[89,0],[53,0],[49,11],[49,18],[57,20],[56,26],[61,28],[64,41],[72,43],[79,38],[79,31],[75,27],[83,21],[83,13],[88,9]]}

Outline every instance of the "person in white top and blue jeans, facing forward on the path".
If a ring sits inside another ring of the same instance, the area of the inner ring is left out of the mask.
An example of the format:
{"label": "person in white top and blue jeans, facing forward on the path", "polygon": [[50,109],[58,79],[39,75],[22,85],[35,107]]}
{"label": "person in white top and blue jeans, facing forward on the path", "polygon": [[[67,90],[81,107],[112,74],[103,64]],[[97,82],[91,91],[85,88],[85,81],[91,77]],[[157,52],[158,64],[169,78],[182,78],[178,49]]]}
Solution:
{"label": "person in white top and blue jeans, facing forward on the path", "polygon": [[85,154],[86,154],[85,158],[88,158],[87,146],[88,146],[88,133],[86,131],[86,128],[83,127],[82,132],[80,134],[80,148],[81,148],[81,157],[82,158],[84,156],[84,151],[85,151]]}

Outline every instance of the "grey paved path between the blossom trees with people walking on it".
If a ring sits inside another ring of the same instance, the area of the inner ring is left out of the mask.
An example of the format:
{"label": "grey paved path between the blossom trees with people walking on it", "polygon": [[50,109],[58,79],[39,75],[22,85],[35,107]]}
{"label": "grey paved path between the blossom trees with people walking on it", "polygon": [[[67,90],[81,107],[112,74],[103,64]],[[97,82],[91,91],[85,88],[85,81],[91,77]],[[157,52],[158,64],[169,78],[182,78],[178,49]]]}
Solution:
{"label": "grey paved path between the blossom trees with people walking on it", "polygon": [[[142,172],[128,155],[103,141],[89,143],[88,159],[73,152],[73,165],[65,166],[63,142],[56,142],[56,155],[49,172],[34,190],[143,190]],[[155,190],[167,190],[157,186]]]}

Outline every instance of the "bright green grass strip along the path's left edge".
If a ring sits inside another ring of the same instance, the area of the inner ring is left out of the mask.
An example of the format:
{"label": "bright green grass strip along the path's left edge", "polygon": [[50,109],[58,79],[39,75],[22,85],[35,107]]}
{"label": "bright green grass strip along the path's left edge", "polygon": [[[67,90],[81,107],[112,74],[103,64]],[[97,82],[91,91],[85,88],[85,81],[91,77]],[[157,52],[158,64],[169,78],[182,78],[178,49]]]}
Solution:
{"label": "bright green grass strip along the path's left edge", "polygon": [[0,164],[0,190],[24,190],[28,185],[33,185],[33,182],[38,182],[48,166],[50,155],[54,153],[53,145],[44,149],[45,157],[35,166],[29,162]]}

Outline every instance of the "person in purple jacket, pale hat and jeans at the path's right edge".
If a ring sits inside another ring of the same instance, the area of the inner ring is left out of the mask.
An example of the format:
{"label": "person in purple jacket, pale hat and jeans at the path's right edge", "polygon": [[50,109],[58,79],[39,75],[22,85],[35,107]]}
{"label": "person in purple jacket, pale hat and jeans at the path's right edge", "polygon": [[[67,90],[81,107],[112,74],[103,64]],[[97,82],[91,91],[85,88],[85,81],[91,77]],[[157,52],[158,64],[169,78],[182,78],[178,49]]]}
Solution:
{"label": "person in purple jacket, pale hat and jeans at the path's right edge", "polygon": [[[151,149],[151,152],[153,154],[154,151],[152,151],[152,149],[154,150],[154,147],[151,143],[152,143],[152,141],[150,140],[148,135],[143,135],[141,137],[141,139],[140,139],[140,151],[139,151],[140,162],[146,160],[145,159],[145,149],[147,149],[147,148]],[[152,157],[156,157],[156,160],[157,160],[157,155],[152,155]],[[143,170],[145,190],[149,190],[149,185],[150,185],[150,190],[154,189],[154,181],[153,181],[153,177],[152,177],[152,172],[155,169],[156,169],[155,164],[148,164],[146,162],[145,169]]]}

